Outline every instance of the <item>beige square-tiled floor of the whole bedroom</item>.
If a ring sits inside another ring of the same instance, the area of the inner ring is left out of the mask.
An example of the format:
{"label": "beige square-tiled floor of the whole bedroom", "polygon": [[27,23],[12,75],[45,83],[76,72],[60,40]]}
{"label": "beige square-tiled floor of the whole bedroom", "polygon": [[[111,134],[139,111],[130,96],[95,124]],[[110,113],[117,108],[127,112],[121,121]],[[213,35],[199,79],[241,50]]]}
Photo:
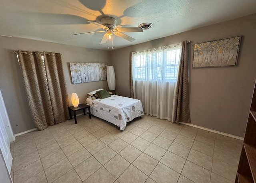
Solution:
{"label": "beige square-tiled floor of the whole bedroom", "polygon": [[154,116],[78,116],[11,144],[14,183],[232,183],[242,141]]}

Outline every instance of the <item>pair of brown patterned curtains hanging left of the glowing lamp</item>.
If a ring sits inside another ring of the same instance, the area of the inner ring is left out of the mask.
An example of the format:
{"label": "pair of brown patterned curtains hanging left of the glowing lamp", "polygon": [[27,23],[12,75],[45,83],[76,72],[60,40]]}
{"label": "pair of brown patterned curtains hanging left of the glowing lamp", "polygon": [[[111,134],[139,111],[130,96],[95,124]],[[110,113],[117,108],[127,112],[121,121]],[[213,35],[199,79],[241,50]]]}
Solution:
{"label": "pair of brown patterned curtains hanging left of the glowing lamp", "polygon": [[[55,59],[50,59],[52,57]],[[36,128],[44,130],[47,126],[66,121],[68,95],[60,54],[44,53],[45,65],[41,52],[18,51],[18,59],[30,114]],[[61,102],[63,100],[65,102]]]}

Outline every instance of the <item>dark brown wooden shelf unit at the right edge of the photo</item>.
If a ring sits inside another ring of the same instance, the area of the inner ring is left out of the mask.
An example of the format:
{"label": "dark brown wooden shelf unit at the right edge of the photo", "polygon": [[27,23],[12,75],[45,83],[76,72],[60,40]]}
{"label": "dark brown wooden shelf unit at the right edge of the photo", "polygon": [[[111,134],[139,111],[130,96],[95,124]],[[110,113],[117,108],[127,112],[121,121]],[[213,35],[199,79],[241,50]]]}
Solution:
{"label": "dark brown wooden shelf unit at the right edge of the photo", "polygon": [[238,165],[236,183],[256,183],[256,86]]}

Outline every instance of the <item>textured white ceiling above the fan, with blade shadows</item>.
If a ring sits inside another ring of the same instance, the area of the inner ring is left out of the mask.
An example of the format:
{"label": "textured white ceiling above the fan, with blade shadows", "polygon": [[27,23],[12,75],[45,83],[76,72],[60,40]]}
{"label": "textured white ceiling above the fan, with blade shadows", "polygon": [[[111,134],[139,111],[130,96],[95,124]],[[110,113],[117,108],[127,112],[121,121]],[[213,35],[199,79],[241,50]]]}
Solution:
{"label": "textured white ceiling above the fan, with blade shadows", "polygon": [[117,19],[116,27],[153,27],[126,32],[136,40],[114,36],[114,49],[256,13],[256,0],[0,0],[0,35],[23,37],[87,48],[100,44],[104,33],[87,20]]}

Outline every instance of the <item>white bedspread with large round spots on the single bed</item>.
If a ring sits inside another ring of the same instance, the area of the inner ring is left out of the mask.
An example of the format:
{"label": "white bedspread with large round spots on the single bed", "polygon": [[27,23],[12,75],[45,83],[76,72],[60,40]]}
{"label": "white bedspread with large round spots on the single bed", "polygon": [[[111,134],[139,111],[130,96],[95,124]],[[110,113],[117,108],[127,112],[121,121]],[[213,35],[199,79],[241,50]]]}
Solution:
{"label": "white bedspread with large round spots on the single bed", "polygon": [[111,95],[104,99],[88,97],[86,104],[91,107],[91,114],[120,126],[124,130],[126,123],[144,115],[142,102],[138,99]]}

